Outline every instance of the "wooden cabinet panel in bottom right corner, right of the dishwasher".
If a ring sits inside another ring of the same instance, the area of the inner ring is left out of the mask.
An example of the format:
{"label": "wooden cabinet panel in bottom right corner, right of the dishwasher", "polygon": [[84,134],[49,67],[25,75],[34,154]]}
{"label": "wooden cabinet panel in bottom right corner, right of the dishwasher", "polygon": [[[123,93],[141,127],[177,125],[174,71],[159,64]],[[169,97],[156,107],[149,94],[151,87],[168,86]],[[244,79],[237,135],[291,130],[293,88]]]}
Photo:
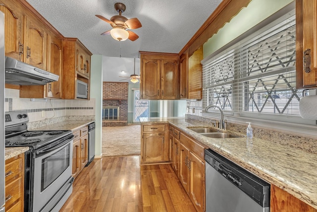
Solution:
{"label": "wooden cabinet panel in bottom right corner, right of the dishwasher", "polygon": [[272,184],[270,199],[270,212],[317,212],[317,209]]}

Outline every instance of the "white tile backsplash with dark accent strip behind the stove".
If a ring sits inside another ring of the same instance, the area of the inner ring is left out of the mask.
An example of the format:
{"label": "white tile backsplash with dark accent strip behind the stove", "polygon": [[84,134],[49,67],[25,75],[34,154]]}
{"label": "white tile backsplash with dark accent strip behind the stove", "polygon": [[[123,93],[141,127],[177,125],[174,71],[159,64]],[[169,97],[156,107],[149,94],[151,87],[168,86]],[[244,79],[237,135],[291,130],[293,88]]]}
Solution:
{"label": "white tile backsplash with dark accent strip behind the stove", "polygon": [[93,116],[95,115],[95,99],[63,100],[47,99],[47,101],[31,101],[20,98],[17,89],[5,88],[4,110],[27,111],[29,122],[48,120],[64,116]]}

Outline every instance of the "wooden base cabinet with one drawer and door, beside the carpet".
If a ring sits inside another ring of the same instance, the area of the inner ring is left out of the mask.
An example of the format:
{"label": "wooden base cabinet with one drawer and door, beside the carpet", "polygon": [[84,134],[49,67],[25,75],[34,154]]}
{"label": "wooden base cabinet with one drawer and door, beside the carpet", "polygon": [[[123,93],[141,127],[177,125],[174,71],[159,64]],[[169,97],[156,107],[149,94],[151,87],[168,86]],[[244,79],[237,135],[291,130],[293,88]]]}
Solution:
{"label": "wooden base cabinet with one drawer and door, beside the carpet", "polygon": [[168,124],[141,124],[141,165],[170,163]]}

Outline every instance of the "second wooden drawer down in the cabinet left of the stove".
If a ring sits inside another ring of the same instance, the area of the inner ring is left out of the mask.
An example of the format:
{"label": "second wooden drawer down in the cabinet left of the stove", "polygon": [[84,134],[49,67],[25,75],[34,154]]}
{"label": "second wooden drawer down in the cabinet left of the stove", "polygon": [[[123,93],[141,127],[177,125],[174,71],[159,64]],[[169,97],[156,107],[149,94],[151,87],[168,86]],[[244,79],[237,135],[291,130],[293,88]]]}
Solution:
{"label": "second wooden drawer down in the cabinet left of the stove", "polygon": [[10,208],[23,194],[22,177],[19,177],[5,185],[5,208]]}

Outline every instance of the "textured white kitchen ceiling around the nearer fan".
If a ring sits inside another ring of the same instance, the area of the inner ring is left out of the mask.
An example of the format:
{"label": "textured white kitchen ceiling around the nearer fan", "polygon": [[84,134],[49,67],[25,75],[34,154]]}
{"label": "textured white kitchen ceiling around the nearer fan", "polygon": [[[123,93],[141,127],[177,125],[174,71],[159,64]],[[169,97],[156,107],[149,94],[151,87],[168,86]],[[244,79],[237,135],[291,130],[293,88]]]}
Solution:
{"label": "textured white kitchen ceiling around the nearer fan", "polygon": [[[93,54],[138,58],[139,51],[179,53],[221,0],[27,0],[63,36],[78,38]],[[114,3],[126,5],[123,16],[142,23],[131,30],[136,41],[116,41],[101,33],[112,29],[96,17],[118,15]]]}

